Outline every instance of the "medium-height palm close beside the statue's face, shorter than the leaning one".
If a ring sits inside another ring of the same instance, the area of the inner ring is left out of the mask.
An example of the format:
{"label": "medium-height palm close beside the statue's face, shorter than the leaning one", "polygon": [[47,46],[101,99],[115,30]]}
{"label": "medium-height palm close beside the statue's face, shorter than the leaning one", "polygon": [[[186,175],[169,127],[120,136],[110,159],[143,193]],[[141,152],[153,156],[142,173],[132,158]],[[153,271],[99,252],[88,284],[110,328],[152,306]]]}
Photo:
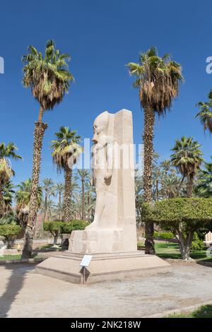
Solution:
{"label": "medium-height palm close beside the statue's face, shorter than the leaning one", "polygon": [[79,142],[81,136],[76,136],[76,130],[71,131],[69,127],[61,126],[59,132],[55,133],[57,139],[52,141],[52,158],[57,165],[57,171],[64,171],[64,221],[71,220],[71,178],[72,168],[76,159],[83,151]]}

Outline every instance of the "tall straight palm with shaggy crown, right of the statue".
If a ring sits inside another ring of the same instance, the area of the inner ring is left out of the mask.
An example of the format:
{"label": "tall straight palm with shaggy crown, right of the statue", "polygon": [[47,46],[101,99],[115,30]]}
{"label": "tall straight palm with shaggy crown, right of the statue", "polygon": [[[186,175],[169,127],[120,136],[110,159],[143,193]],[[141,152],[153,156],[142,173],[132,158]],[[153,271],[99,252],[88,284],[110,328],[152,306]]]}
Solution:
{"label": "tall straight palm with shaggy crown, right of the statue", "polygon": [[[181,66],[168,54],[159,57],[155,47],[141,53],[138,64],[130,62],[127,66],[130,74],[136,77],[134,87],[139,88],[139,100],[144,112],[144,201],[151,202],[155,113],[158,117],[164,116],[172,106],[172,100],[177,97],[179,81],[183,79]],[[153,233],[153,223],[146,223],[146,254],[155,254]]]}

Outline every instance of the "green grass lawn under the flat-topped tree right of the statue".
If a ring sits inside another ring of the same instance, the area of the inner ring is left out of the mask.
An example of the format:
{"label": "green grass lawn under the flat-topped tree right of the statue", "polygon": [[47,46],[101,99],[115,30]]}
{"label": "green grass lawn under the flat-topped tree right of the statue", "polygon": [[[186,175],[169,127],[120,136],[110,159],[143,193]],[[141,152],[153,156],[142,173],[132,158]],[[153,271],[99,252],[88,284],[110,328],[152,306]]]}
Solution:
{"label": "green grass lawn under the flat-topped tree right of the statue", "polygon": [[[143,249],[143,242],[139,242],[139,249]],[[207,248],[206,248],[207,249]],[[191,257],[196,261],[211,261],[212,257],[206,256],[206,249],[200,251],[192,251]],[[170,243],[169,246],[165,241],[155,242],[156,254],[162,259],[181,259],[179,246],[177,243]]]}

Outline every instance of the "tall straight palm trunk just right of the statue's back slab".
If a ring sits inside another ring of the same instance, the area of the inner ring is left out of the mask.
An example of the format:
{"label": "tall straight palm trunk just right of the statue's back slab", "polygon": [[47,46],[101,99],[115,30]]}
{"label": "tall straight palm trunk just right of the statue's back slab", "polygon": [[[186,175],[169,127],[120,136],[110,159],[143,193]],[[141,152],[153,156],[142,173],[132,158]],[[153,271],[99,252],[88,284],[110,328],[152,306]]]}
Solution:
{"label": "tall straight palm trunk just right of the statue's back slab", "polygon": [[[154,136],[155,112],[151,107],[144,109],[144,168],[143,168],[143,189],[144,201],[152,201],[152,168],[153,168],[153,136]],[[145,225],[145,253],[155,254],[154,247],[154,224],[146,222]]]}

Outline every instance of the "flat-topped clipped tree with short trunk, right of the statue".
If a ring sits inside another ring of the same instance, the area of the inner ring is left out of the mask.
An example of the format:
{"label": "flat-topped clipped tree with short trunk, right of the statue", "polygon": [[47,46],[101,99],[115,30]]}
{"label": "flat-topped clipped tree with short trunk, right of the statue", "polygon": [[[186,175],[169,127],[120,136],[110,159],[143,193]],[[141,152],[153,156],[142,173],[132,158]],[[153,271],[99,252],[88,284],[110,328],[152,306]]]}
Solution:
{"label": "flat-topped clipped tree with short trunk, right of the statue", "polygon": [[176,234],[182,259],[190,259],[194,232],[201,227],[211,227],[212,199],[171,198],[154,204],[143,203],[142,218],[146,223],[158,223],[163,229]]}

